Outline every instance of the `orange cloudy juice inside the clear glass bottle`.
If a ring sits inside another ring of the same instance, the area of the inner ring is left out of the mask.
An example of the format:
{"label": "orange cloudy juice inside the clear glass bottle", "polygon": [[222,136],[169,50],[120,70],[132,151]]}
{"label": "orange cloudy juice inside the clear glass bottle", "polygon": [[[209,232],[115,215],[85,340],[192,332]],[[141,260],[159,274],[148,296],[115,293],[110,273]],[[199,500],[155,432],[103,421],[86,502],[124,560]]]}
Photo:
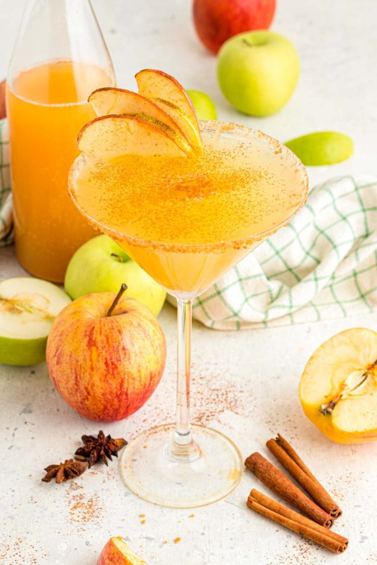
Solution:
{"label": "orange cloudy juice inside the clear glass bottle", "polygon": [[92,63],[52,60],[8,86],[16,255],[33,275],[64,280],[76,249],[95,235],[68,195],[77,132],[95,117],[92,90],[112,84]]}

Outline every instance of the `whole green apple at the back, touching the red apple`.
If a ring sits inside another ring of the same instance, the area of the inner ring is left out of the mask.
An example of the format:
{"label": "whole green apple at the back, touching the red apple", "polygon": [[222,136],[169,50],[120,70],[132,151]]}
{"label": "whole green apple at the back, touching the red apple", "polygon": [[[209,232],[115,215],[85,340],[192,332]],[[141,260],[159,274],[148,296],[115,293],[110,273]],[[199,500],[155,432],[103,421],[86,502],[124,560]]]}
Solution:
{"label": "whole green apple at the back, touching the red apple", "polygon": [[224,96],[237,110],[268,116],[291,98],[300,61],[291,41],[280,33],[246,32],[224,43],[217,71]]}

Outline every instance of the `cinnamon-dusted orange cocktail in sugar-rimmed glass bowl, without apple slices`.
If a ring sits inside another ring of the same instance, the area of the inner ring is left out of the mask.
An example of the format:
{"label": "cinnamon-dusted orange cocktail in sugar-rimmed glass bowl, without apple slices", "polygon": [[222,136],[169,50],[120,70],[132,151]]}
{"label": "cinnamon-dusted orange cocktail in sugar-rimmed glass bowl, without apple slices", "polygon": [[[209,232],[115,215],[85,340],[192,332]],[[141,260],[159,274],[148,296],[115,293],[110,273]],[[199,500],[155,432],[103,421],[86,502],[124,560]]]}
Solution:
{"label": "cinnamon-dusted orange cocktail in sugar-rimmed glass bowl, without apple slices", "polygon": [[86,218],[180,295],[207,289],[265,232],[287,223],[307,192],[297,159],[283,157],[263,134],[219,135],[207,125],[202,137],[198,158],[128,155],[105,163],[81,155],[70,174]]}

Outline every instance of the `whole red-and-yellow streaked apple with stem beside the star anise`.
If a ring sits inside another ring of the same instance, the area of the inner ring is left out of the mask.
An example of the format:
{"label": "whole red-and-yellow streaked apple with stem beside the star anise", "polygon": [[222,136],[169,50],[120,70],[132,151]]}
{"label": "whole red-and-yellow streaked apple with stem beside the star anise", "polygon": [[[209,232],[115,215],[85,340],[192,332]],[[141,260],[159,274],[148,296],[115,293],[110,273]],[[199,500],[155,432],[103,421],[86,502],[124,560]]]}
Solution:
{"label": "whole red-and-yellow streaked apple with stem beside the star anise", "polygon": [[[127,287],[126,287],[127,288]],[[161,379],[166,343],[150,310],[123,295],[87,294],[55,318],[46,361],[58,392],[90,420],[122,420],[148,400]]]}

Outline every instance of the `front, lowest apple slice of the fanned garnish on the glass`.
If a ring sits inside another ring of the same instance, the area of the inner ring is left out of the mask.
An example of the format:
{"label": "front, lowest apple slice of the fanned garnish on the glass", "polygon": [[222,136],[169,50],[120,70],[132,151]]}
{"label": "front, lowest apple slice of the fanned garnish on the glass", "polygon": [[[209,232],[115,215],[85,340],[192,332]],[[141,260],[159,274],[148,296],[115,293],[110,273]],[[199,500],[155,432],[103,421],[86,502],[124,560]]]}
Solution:
{"label": "front, lowest apple slice of the fanned garnish on the glass", "polygon": [[154,118],[110,114],[85,124],[77,136],[77,147],[104,160],[131,154],[184,157],[187,153],[175,136],[175,132]]}

